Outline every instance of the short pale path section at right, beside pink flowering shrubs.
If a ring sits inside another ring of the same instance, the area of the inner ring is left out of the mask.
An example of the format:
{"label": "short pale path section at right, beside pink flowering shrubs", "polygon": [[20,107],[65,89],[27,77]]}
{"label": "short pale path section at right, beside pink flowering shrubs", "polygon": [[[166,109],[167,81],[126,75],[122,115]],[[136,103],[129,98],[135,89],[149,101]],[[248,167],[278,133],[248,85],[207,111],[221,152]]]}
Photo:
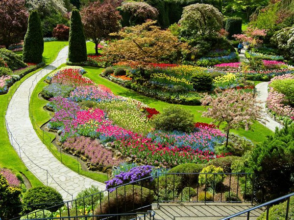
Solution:
{"label": "short pale path section at right, beside pink flowering shrubs", "polygon": [[264,115],[264,120],[260,123],[269,128],[271,131],[275,131],[275,128],[279,129],[283,128],[283,126],[270,118],[270,116],[266,113],[266,101],[268,98],[268,86],[269,82],[262,82],[255,86],[258,101],[261,101],[262,106],[262,114]]}

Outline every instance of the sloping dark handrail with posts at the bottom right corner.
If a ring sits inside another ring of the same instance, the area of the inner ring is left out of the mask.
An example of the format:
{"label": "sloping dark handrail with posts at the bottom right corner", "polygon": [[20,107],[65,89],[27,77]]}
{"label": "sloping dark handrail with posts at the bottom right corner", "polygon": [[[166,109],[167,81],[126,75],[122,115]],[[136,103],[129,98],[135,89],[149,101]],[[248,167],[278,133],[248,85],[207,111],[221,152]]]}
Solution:
{"label": "sloping dark handrail with posts at the bottom right corner", "polygon": [[288,194],[286,196],[282,196],[282,197],[279,197],[279,198],[276,198],[276,199],[273,199],[273,200],[270,200],[268,202],[265,202],[263,204],[260,204],[260,205],[257,205],[257,206],[254,206],[252,208],[249,208],[249,209],[246,209],[244,211],[241,211],[241,212],[238,212],[234,215],[231,215],[231,216],[228,216],[226,218],[223,218],[221,220],[230,220],[232,218],[235,218],[235,217],[238,217],[238,216],[241,216],[243,214],[246,214],[247,213],[247,219],[249,219],[249,215],[250,215],[250,212],[255,210],[255,209],[259,209],[259,208],[262,208],[262,207],[267,207],[267,220],[269,219],[269,210],[270,210],[270,205],[273,204],[273,203],[276,203],[276,202],[279,202],[281,200],[285,200],[287,199],[287,208],[286,208],[286,220],[288,219],[288,212],[289,212],[289,202],[290,202],[290,197],[293,197],[294,196],[294,193],[291,193],[291,194]]}

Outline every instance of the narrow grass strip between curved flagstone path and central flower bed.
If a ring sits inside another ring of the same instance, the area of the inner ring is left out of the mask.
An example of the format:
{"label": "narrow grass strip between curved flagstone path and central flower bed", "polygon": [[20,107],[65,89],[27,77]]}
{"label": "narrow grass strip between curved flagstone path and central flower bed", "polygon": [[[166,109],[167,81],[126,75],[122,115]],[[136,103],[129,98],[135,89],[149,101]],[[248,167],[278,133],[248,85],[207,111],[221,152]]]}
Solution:
{"label": "narrow grass strip between curved flagstone path and central flower bed", "polygon": [[[61,65],[59,67],[62,67],[65,65]],[[43,107],[48,103],[47,100],[40,99],[38,97],[38,94],[42,91],[42,89],[47,86],[48,84],[44,82],[46,79],[46,76],[39,81],[37,86],[35,87],[31,100],[30,100],[30,115],[33,115],[34,122],[38,126],[35,126],[35,131],[37,132],[38,136],[40,137],[41,140],[44,141],[43,143],[48,147],[48,149],[51,151],[51,153],[59,160],[62,161],[62,163],[73,170],[76,173],[79,173],[84,176],[88,176],[94,180],[97,180],[99,182],[104,182],[108,179],[106,174],[102,173],[96,173],[96,172],[89,172],[89,171],[83,171],[81,170],[81,165],[80,163],[74,159],[72,156],[69,154],[60,154],[60,151],[51,144],[51,140],[55,138],[55,134],[50,133],[50,132],[44,132],[43,130],[40,129],[43,124],[48,122],[51,119],[51,115],[48,111],[45,111]]]}

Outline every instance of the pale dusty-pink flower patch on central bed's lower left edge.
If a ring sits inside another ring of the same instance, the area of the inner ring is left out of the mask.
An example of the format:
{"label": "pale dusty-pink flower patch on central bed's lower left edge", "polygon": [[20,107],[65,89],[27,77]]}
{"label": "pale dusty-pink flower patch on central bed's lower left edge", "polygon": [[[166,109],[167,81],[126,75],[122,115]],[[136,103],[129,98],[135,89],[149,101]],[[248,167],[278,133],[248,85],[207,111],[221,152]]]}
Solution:
{"label": "pale dusty-pink flower patch on central bed's lower left edge", "polygon": [[122,162],[121,159],[113,159],[112,151],[106,150],[103,145],[89,137],[70,137],[64,142],[64,148],[87,157],[93,165],[110,168]]}

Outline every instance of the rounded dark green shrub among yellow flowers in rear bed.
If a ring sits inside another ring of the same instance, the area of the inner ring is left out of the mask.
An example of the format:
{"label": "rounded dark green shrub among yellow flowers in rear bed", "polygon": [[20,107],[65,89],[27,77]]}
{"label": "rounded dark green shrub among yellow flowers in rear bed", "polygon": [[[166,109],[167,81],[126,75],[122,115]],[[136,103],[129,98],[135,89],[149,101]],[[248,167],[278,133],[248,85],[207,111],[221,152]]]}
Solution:
{"label": "rounded dark green shrub among yellow flowers in rear bed", "polygon": [[210,91],[212,89],[212,76],[209,73],[198,73],[192,77],[191,83],[196,91]]}

